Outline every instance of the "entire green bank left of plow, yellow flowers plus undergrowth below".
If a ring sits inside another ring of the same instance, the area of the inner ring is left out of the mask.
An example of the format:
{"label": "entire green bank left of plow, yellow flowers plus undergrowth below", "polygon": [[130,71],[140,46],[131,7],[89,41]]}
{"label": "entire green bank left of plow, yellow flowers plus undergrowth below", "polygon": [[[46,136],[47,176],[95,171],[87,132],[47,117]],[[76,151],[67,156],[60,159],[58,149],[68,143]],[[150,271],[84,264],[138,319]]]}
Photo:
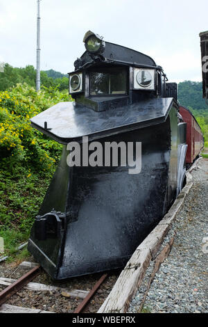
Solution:
{"label": "entire green bank left of plow, yellow flowers plus undergrowth below", "polygon": [[0,91],[0,234],[6,239],[17,229],[21,241],[28,237],[62,150],[30,118],[70,100],[57,88],[36,93],[26,83]]}

